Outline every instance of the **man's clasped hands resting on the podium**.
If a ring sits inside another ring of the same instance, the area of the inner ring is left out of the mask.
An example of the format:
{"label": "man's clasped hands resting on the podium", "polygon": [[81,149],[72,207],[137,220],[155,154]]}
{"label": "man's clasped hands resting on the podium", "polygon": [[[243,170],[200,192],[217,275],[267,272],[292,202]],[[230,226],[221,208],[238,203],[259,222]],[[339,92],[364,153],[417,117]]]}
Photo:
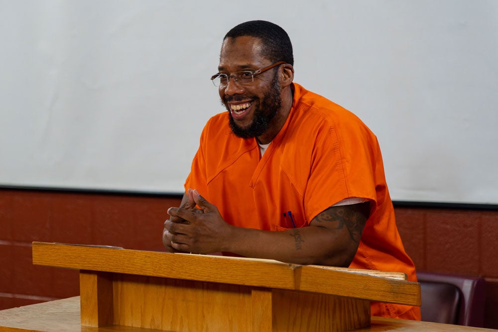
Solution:
{"label": "man's clasped hands resting on the podium", "polygon": [[186,194],[188,199],[182,206],[168,209],[170,218],[162,232],[166,250],[201,254],[227,251],[225,244],[233,226],[197,190],[188,189]]}

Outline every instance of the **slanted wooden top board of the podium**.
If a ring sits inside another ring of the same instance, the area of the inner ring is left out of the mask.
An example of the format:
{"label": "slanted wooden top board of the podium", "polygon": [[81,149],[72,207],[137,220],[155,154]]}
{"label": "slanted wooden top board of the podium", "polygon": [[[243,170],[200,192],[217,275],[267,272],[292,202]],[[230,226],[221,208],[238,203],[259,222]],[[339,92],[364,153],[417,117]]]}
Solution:
{"label": "slanted wooden top board of the podium", "polygon": [[403,278],[399,273],[46,242],[33,242],[32,250],[35,265],[295,290],[420,306],[420,284],[400,280]]}

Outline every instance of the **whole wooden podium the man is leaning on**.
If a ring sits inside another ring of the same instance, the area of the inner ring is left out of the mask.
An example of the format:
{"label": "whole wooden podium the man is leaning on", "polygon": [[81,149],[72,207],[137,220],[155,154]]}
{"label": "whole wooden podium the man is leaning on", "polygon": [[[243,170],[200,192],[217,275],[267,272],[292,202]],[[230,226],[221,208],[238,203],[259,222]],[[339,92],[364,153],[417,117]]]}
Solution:
{"label": "whole wooden podium the man is leaning on", "polygon": [[370,325],[371,301],[420,306],[418,283],[369,270],[44,242],[33,264],[80,270],[88,327],[348,331]]}

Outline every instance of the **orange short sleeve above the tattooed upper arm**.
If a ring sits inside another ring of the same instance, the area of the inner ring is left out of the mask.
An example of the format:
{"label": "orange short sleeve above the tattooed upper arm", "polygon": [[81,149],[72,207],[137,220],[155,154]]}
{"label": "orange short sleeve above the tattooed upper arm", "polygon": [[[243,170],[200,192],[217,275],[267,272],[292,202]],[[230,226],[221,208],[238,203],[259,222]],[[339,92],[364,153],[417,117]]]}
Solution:
{"label": "orange short sleeve above the tattooed upper arm", "polygon": [[356,117],[324,121],[313,147],[304,195],[308,220],[350,197],[375,201],[373,138]]}

